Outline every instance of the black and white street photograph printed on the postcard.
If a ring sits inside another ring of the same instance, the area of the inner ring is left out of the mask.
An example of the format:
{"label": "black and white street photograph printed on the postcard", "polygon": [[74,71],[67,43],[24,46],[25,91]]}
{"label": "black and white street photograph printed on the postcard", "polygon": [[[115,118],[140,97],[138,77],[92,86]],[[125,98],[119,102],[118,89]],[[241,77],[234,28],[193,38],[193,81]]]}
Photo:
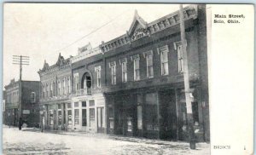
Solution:
{"label": "black and white street photograph printed on the postcard", "polygon": [[211,146],[209,9],[4,3],[3,154],[229,149]]}

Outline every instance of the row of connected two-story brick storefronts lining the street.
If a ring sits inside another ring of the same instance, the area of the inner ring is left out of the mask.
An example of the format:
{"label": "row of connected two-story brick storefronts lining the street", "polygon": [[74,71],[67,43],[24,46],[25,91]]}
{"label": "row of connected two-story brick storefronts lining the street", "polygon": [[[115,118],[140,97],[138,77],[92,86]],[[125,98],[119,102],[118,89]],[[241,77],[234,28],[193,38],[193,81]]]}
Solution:
{"label": "row of connected two-story brick storefronts lining the street", "polygon": [[[205,5],[184,9],[195,133],[209,141]],[[44,129],[186,141],[179,13],[146,23],[55,65],[44,62],[40,105]]]}

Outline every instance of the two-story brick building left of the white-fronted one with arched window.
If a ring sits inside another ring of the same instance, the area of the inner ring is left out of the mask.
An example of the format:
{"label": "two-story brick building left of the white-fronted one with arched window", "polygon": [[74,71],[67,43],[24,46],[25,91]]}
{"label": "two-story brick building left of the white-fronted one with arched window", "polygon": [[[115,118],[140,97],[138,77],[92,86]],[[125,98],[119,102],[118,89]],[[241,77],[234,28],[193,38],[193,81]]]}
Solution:
{"label": "two-story brick building left of the white-fronted one with arched window", "polygon": [[73,120],[71,107],[71,73],[70,58],[64,59],[61,54],[57,62],[49,66],[44,61],[43,69],[38,71],[40,76],[40,106],[44,112],[42,119],[45,129],[71,129]]}

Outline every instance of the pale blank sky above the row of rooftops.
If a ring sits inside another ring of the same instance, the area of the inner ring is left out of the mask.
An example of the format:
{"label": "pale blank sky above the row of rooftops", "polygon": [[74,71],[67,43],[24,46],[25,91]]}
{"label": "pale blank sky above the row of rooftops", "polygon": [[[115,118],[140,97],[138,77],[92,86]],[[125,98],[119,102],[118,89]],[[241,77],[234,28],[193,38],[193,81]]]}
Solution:
{"label": "pale blank sky above the row of rooftops", "polygon": [[66,59],[78,55],[78,49],[87,43],[96,48],[102,41],[125,34],[136,9],[149,23],[177,11],[179,5],[4,3],[3,86],[13,78],[19,79],[20,67],[12,64],[13,55],[30,57],[29,66],[22,68],[22,80],[39,81],[44,60],[51,66],[59,53]]}

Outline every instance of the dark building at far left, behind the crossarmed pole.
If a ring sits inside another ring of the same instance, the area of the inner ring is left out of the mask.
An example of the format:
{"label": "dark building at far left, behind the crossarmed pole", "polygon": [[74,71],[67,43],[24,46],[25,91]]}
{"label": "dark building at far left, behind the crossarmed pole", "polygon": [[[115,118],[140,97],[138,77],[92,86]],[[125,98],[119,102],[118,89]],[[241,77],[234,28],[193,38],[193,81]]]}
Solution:
{"label": "dark building at far left, behind the crossarmed pole", "polygon": [[[39,82],[21,81],[12,79],[5,87],[5,110],[3,112],[4,123],[18,126],[19,112],[23,123],[31,127],[39,125]],[[19,98],[21,91],[21,98]],[[21,106],[20,106],[21,99]],[[21,109],[20,109],[21,108]]]}

